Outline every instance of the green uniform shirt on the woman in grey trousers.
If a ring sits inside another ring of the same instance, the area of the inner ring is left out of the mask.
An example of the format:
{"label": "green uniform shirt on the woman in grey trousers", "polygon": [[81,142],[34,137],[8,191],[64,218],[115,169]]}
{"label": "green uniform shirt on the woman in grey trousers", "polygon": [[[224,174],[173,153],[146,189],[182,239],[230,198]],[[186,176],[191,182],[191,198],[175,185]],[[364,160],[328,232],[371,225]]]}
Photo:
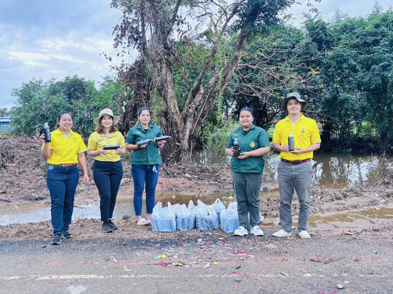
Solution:
{"label": "green uniform shirt on the woman in grey trousers", "polygon": [[[261,147],[270,147],[268,133],[255,125],[252,125],[248,131],[243,131],[243,127],[239,127],[231,132],[226,147],[233,147],[235,139],[239,142],[239,154]],[[264,165],[262,156],[250,156],[246,159],[231,158],[231,171],[233,172],[263,172]]]}

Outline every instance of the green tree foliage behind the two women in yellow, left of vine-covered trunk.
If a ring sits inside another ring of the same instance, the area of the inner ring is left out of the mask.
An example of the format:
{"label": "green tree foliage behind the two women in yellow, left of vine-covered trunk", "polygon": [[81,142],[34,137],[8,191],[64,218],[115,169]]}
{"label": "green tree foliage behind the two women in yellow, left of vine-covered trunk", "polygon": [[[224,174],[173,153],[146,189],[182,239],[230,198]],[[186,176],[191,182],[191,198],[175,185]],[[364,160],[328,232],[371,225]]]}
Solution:
{"label": "green tree foliage behind the two women in yellow, left of vine-covered trunk", "polygon": [[46,122],[55,129],[57,114],[66,110],[73,115],[73,131],[87,139],[95,129],[93,119],[102,109],[118,109],[115,104],[120,91],[121,85],[109,76],[98,89],[94,81],[78,76],[66,76],[58,82],[32,79],[13,89],[13,127],[16,133],[38,136]]}

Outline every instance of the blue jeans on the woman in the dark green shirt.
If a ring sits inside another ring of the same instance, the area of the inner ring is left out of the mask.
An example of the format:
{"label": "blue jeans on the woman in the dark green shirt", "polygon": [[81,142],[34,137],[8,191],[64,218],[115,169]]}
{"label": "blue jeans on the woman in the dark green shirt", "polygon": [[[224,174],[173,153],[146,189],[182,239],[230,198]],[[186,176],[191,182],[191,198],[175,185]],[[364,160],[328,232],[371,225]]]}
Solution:
{"label": "blue jeans on the woman in the dark green shirt", "polygon": [[[153,171],[156,167],[156,171]],[[155,165],[131,165],[131,174],[134,179],[134,209],[135,215],[142,215],[142,194],[143,188],[146,191],[146,213],[152,213],[156,198],[156,185],[158,181],[158,171],[160,166]]]}

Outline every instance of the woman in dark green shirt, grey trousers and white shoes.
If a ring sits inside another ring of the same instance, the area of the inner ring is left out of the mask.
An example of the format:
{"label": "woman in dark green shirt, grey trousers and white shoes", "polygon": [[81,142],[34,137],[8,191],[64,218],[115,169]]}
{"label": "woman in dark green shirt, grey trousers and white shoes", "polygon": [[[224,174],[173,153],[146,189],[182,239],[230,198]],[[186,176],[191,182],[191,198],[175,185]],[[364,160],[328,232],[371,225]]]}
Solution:
{"label": "woman in dark green shirt, grey trousers and white shoes", "polygon": [[[231,158],[232,185],[235,191],[239,228],[234,234],[244,236],[248,213],[250,213],[251,234],[263,236],[259,227],[259,192],[262,185],[264,161],[262,156],[270,152],[270,142],[267,132],[253,124],[252,109],[244,107],[240,111],[241,127],[231,132],[225,153]],[[239,142],[239,157],[233,157],[233,142]]]}

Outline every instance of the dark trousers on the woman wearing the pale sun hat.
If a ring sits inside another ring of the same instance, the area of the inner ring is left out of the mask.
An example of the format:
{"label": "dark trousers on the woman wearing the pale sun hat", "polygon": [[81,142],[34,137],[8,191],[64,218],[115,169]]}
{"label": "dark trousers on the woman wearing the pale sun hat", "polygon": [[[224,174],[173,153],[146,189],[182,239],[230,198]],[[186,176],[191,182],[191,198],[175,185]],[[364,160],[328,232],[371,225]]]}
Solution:
{"label": "dark trousers on the woman wearing the pale sun hat", "polygon": [[118,196],[123,166],[117,162],[95,160],[93,164],[93,178],[97,186],[100,201],[101,221],[112,218]]}

